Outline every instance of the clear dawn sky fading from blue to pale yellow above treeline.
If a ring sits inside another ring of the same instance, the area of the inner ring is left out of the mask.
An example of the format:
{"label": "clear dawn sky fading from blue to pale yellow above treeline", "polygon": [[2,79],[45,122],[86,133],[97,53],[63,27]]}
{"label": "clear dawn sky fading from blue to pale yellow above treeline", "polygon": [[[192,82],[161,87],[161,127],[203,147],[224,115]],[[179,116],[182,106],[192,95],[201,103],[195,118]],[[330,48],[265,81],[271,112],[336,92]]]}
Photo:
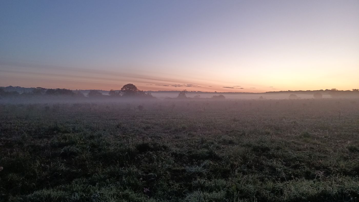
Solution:
{"label": "clear dawn sky fading from blue to pale yellow above treeline", "polygon": [[359,1],[0,1],[0,86],[359,88]]}

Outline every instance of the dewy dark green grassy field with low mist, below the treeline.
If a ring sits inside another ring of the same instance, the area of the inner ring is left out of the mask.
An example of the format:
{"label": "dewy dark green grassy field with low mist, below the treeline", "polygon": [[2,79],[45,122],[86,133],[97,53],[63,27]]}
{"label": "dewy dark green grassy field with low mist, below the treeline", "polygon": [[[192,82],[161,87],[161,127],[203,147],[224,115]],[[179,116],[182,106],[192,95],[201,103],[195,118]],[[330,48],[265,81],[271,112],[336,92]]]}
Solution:
{"label": "dewy dark green grassy field with low mist, below the treeline", "polygon": [[0,201],[359,201],[359,100],[0,104]]}

